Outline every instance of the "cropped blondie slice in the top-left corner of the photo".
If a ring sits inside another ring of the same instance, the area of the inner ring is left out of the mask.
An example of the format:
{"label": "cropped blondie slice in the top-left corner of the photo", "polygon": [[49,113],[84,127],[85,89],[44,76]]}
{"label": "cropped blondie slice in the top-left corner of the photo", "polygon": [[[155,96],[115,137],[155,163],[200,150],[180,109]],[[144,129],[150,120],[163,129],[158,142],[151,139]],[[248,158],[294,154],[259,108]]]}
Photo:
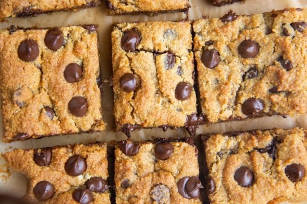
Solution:
{"label": "cropped blondie slice in the top-left corner of the photo", "polygon": [[26,17],[54,11],[96,7],[100,0],[1,0],[0,21],[8,17]]}

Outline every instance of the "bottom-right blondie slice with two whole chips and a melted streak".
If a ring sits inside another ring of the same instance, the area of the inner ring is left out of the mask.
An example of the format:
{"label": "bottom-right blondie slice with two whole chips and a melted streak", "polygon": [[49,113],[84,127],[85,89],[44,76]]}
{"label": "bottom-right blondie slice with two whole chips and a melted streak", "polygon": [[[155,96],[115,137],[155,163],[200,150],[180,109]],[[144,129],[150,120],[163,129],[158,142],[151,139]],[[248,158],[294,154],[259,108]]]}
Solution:
{"label": "bottom-right blondie slice with two whole chips and a melted streak", "polygon": [[202,136],[210,203],[305,201],[305,135],[296,128]]}

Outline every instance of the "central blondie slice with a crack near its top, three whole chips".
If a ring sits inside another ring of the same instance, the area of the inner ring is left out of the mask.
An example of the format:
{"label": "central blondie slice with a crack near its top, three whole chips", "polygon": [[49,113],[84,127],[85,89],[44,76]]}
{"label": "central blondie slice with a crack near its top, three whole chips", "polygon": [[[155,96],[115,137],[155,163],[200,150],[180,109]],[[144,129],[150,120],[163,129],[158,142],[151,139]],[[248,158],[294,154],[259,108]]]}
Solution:
{"label": "central blondie slice with a crack near its top, three whole chips", "polygon": [[[190,21],[118,23],[112,32],[117,130],[194,125]],[[193,131],[190,131],[193,132]]]}

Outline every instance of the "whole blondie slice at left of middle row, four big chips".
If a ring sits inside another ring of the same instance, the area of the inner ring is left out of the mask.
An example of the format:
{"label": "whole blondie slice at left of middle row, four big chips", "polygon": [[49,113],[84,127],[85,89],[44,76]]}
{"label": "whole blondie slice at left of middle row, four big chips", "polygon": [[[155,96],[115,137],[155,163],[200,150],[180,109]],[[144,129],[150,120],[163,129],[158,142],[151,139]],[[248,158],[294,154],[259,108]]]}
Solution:
{"label": "whole blondie slice at left of middle row, four big chips", "polygon": [[96,25],[0,30],[3,140],[103,131]]}

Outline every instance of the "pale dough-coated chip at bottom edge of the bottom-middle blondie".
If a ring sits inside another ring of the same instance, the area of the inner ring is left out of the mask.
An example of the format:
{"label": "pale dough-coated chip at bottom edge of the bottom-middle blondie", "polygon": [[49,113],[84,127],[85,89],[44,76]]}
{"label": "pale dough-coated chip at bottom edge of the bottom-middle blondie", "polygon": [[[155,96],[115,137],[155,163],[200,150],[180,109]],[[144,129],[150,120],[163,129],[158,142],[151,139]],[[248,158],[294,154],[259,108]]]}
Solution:
{"label": "pale dough-coated chip at bottom edge of the bottom-middle blondie", "polygon": [[170,199],[170,190],[164,184],[157,184],[151,188],[150,196],[152,200],[155,200],[159,204],[168,203]]}

